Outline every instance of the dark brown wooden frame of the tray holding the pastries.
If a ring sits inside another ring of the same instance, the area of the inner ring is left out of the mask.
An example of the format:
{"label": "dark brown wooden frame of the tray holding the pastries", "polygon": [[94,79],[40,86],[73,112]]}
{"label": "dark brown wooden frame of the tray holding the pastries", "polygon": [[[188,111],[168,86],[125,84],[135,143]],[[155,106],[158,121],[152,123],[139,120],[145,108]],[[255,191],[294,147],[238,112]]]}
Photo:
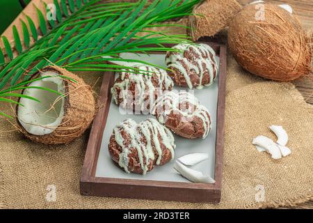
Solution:
{"label": "dark brown wooden frame of the tray holding the pastries", "polygon": [[[186,201],[218,203],[222,188],[223,144],[225,120],[225,85],[227,50],[220,43],[208,43],[220,56],[220,75],[218,86],[216,160],[214,184],[182,183],[155,180],[131,180],[121,178],[96,177],[97,160],[102,144],[111,103],[110,89],[114,83],[114,72],[107,72],[102,80],[99,93],[99,112],[95,116],[88,141],[86,157],[80,180],[80,192],[86,196],[152,199],[163,201]],[[172,47],[173,45],[167,45]]]}

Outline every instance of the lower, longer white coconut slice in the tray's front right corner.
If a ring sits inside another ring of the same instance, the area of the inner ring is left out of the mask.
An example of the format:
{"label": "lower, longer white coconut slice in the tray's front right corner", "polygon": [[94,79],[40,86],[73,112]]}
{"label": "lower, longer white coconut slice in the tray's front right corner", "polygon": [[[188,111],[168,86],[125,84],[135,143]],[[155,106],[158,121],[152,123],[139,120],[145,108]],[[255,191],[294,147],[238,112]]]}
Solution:
{"label": "lower, longer white coconut slice in the tray's front right corner", "polygon": [[215,183],[215,180],[210,176],[202,174],[200,171],[188,168],[180,162],[175,162],[174,169],[184,176],[187,180],[190,180],[193,183]]}

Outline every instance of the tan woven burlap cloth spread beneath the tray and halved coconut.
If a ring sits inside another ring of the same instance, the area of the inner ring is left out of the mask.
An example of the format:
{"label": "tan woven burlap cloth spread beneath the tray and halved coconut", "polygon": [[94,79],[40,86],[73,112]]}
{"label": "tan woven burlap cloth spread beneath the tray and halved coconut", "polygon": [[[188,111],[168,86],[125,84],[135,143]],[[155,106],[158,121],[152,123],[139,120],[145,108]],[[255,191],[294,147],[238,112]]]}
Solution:
{"label": "tan woven burlap cloth spread beneath the tray and halved coconut", "polygon": [[[94,85],[102,73],[78,73]],[[101,79],[94,89],[99,91]],[[0,103],[1,110],[10,111]],[[275,140],[269,125],[289,132],[289,157],[274,161],[252,139]],[[270,82],[242,70],[228,56],[223,189],[220,204],[83,197],[79,178],[88,134],[66,146],[25,139],[0,120],[1,208],[267,208],[313,199],[313,107],[293,84]],[[56,201],[47,201],[48,185]]]}

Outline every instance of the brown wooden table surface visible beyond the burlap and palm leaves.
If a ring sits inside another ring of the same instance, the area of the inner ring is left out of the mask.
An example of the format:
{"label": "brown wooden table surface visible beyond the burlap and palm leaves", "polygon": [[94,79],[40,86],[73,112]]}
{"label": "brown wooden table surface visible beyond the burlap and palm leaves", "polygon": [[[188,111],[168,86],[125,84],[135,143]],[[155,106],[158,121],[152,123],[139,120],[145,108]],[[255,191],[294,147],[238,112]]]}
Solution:
{"label": "brown wooden table surface visible beyond the burlap and palm leaves", "polygon": [[[41,1],[45,1],[46,3],[51,3],[53,0],[32,0],[26,8],[24,8],[23,13],[29,15],[35,22],[35,25],[38,26],[37,15],[33,8],[33,3],[38,6],[38,8],[43,9],[44,6]],[[252,0],[237,0],[242,5],[246,3],[252,2]],[[305,27],[307,31],[312,31],[312,38],[313,38],[313,0],[276,0],[276,1],[266,1],[266,2],[273,2],[273,3],[288,3],[292,8],[294,8],[294,13],[298,15],[301,23]],[[15,24],[18,30],[20,26],[19,19],[24,18],[24,15],[21,13],[10,26],[8,29],[3,32],[3,35],[6,36],[9,40],[13,40],[13,33],[12,33],[12,26]],[[2,43],[0,43],[0,47],[3,47]],[[293,84],[296,85],[296,88],[303,94],[305,100],[313,105],[313,75],[311,77],[303,77],[298,79]],[[313,201],[309,201],[307,203],[303,203],[295,208],[313,208]]]}

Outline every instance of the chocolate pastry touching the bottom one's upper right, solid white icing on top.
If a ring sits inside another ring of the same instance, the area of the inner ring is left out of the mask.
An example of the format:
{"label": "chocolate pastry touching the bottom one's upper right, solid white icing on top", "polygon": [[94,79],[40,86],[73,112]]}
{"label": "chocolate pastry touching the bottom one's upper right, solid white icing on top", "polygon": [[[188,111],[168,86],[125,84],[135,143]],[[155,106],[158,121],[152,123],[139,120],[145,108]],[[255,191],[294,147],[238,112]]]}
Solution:
{"label": "chocolate pastry touching the bottom one's upper right, solid white icing on top", "polygon": [[154,103],[152,114],[159,123],[188,139],[206,138],[211,130],[209,111],[188,92],[164,93]]}

